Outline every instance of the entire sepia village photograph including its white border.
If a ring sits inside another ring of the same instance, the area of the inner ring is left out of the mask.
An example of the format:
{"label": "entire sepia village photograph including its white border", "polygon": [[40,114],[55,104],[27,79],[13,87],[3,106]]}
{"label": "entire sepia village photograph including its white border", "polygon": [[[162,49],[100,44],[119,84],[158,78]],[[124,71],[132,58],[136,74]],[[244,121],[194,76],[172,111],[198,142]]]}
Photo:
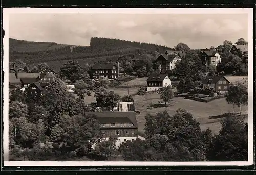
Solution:
{"label": "entire sepia village photograph including its white border", "polygon": [[252,8],[4,8],[4,165],[252,165],[252,28]]}

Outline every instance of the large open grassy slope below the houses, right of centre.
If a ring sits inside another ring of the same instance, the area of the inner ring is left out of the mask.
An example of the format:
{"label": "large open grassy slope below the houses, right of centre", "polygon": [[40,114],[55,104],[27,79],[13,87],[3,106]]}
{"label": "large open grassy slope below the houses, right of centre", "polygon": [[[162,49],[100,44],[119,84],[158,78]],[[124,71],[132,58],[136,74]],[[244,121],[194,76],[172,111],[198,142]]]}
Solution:
{"label": "large open grassy slope below the houses, right of centre", "polygon": [[[145,115],[147,113],[154,115],[159,111],[164,111],[165,109],[170,115],[175,114],[176,110],[179,108],[186,109],[188,112],[193,114],[194,119],[200,122],[200,128],[202,130],[209,127],[213,133],[219,132],[221,128],[220,121],[224,117],[223,114],[229,112],[233,113],[233,106],[231,104],[227,104],[225,98],[215,99],[214,101],[204,103],[184,99],[183,97],[175,97],[175,102],[170,106],[159,108],[148,108],[148,106],[158,103],[159,94],[150,94],[145,96],[136,95],[134,100],[135,110],[140,111],[140,114],[137,114],[138,130],[140,133],[144,132]],[[242,114],[247,114],[247,110],[247,106],[242,107]],[[239,112],[238,107],[235,107],[235,112]]]}

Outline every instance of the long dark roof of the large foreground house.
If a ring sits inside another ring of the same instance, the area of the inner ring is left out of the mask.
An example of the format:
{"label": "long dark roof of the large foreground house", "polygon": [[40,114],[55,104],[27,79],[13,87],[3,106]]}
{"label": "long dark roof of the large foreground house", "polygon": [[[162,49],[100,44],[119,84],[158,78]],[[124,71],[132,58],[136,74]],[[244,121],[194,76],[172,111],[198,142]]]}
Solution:
{"label": "long dark roof of the large foreground house", "polygon": [[85,112],[86,115],[95,115],[101,124],[131,123],[138,128],[135,112]]}

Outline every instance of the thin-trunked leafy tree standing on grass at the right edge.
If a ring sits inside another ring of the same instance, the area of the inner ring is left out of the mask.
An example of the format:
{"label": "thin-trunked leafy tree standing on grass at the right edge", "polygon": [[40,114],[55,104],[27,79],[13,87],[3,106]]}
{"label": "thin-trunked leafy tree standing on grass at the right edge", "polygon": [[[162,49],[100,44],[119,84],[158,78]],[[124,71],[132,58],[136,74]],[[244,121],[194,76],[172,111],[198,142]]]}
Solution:
{"label": "thin-trunked leafy tree standing on grass at the right edge", "polygon": [[237,105],[241,115],[241,106],[248,105],[248,92],[246,87],[240,82],[236,82],[236,84],[231,83],[228,89],[226,101],[228,104],[233,104],[233,114],[234,105]]}

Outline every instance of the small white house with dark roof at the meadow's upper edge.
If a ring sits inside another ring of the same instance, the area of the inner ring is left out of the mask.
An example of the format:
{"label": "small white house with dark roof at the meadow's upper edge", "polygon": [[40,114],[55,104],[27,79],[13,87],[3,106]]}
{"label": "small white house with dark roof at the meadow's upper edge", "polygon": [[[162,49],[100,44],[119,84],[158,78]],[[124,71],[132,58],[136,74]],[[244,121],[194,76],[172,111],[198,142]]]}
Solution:
{"label": "small white house with dark roof at the meadow's upper edge", "polygon": [[165,86],[172,86],[172,81],[167,74],[151,74],[147,79],[147,91],[158,90]]}

